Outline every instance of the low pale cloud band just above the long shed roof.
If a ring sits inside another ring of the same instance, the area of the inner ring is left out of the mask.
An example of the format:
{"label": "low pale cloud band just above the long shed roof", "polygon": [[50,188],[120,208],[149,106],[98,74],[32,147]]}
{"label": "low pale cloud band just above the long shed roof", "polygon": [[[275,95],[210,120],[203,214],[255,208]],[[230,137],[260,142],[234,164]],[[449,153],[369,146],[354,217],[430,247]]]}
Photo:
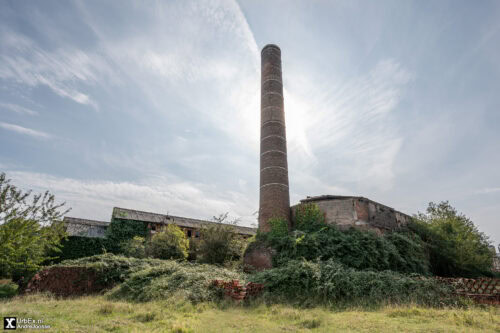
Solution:
{"label": "low pale cloud band just above the long shed roof", "polygon": [[143,179],[139,182],[82,181],[33,172],[7,171],[13,182],[25,189],[49,190],[57,200],[66,201],[72,215],[110,220],[113,206],[158,213],[210,219],[229,212],[241,223],[255,222],[255,202],[243,193],[221,193],[215,186],[186,182],[174,176]]}

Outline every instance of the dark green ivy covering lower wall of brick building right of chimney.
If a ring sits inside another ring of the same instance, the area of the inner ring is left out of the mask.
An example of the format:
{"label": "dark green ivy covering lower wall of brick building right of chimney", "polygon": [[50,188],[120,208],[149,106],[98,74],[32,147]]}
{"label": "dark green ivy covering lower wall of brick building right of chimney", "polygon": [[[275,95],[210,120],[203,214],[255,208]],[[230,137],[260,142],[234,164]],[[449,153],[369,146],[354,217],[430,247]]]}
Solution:
{"label": "dark green ivy covering lower wall of brick building right of chimney", "polygon": [[300,205],[295,217],[297,229],[289,234],[258,235],[259,240],[276,250],[275,266],[294,259],[335,259],[355,269],[428,274],[427,257],[418,236],[392,233],[381,237],[355,228],[342,231],[336,225],[325,224],[315,204]]}

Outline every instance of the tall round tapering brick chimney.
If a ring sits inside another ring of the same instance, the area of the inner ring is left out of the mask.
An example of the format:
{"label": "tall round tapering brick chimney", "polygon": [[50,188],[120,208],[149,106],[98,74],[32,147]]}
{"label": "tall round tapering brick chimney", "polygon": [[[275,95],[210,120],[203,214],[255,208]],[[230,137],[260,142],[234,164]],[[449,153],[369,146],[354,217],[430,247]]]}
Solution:
{"label": "tall round tapering brick chimney", "polygon": [[272,217],[290,223],[281,50],[277,45],[262,49],[261,71],[259,231],[268,232]]}

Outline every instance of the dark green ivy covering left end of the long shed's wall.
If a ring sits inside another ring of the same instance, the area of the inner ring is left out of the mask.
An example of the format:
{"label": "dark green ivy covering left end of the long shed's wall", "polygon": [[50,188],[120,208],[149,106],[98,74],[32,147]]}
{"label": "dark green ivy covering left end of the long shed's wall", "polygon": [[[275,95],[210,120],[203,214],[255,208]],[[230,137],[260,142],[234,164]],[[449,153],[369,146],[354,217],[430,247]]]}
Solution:
{"label": "dark green ivy covering left end of the long shed's wall", "polygon": [[135,236],[146,238],[148,229],[146,223],[127,219],[113,218],[106,230],[106,239],[108,240],[109,252],[120,254],[123,250],[124,242]]}

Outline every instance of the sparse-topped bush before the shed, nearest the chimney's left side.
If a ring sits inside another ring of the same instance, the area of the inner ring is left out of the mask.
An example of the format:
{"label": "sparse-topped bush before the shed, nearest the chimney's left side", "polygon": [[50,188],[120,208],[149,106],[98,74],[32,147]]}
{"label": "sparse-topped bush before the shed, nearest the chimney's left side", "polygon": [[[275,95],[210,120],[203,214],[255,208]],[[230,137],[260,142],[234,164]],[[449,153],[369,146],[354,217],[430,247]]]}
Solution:
{"label": "sparse-topped bush before the shed, nearest the chimney's left side", "polygon": [[227,213],[214,217],[216,223],[200,229],[197,260],[208,264],[224,264],[242,258],[246,241],[234,230],[237,220],[225,224]]}

